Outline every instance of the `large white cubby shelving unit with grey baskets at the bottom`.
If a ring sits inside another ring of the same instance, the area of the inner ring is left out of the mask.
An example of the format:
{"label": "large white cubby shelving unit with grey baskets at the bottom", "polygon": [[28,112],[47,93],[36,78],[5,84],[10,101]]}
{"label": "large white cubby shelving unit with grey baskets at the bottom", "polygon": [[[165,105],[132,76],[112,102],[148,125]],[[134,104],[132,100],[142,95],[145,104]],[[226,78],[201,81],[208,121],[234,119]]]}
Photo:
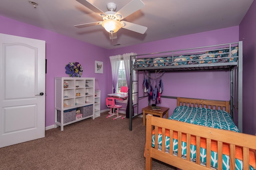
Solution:
{"label": "large white cubby shelving unit with grey baskets at the bottom", "polygon": [[[64,83],[68,87],[64,88]],[[63,131],[65,125],[94,119],[94,86],[95,78],[55,78],[55,127]],[[77,110],[82,116],[76,116]]]}

